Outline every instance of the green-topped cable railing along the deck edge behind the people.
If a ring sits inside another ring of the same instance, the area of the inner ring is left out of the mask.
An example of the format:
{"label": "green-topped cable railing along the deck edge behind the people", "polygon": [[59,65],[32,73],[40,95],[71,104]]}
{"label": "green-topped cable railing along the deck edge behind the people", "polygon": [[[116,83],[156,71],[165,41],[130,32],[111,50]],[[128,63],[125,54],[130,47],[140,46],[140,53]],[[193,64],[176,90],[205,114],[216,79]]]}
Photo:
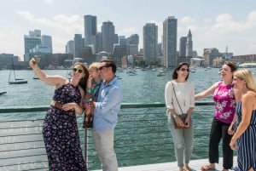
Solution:
{"label": "green-topped cable railing along the deck edge behind the people", "polygon": [[[207,158],[213,102],[196,102],[193,113],[195,148],[192,159]],[[48,106],[0,108],[0,170],[28,171],[48,168],[42,125]],[[90,170],[101,168],[90,129],[82,128],[81,146]],[[114,149],[119,167],[175,161],[164,103],[122,104],[115,128]]]}

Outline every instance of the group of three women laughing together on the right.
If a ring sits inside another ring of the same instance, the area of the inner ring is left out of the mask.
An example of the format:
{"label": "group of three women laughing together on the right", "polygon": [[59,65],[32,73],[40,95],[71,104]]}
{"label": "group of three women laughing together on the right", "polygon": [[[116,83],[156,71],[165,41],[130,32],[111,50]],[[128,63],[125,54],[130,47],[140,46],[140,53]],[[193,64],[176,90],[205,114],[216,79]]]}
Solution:
{"label": "group of three women laughing together on the right", "polygon": [[194,148],[191,114],[195,100],[211,94],[215,112],[209,139],[209,163],[201,166],[201,170],[215,169],[219,158],[218,145],[222,140],[223,171],[233,167],[233,150],[236,148],[236,169],[256,171],[256,83],[253,73],[247,69],[237,70],[236,65],[228,61],[222,66],[220,75],[221,81],[195,94],[193,83],[188,81],[189,64],[183,62],[177,65],[172,80],[166,83],[166,115],[179,171],[192,170],[189,160]]}

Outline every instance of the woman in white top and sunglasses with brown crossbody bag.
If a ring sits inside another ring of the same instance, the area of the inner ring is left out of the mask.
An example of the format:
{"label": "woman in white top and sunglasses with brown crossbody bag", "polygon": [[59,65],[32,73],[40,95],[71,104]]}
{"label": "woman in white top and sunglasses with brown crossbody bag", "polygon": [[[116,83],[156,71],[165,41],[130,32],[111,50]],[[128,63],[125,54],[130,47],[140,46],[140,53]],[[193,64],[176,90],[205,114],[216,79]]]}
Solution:
{"label": "woman in white top and sunglasses with brown crossbody bag", "polygon": [[[168,126],[174,142],[179,171],[191,170],[189,160],[194,147],[191,114],[195,107],[195,87],[188,78],[189,64],[179,63],[172,73],[172,81],[166,83],[165,89]],[[175,128],[175,124],[182,128]]]}

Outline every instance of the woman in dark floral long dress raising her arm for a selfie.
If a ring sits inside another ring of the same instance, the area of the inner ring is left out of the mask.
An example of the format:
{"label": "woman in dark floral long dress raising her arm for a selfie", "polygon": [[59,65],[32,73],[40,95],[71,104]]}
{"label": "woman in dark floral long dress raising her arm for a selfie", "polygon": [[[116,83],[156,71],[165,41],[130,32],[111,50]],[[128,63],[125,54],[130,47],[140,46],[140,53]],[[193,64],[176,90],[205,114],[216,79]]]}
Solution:
{"label": "woman in dark floral long dress raising her arm for a selfie", "polygon": [[29,66],[44,83],[55,87],[49,110],[44,118],[44,145],[49,171],[86,171],[79,141],[76,113],[82,114],[82,99],[89,77],[82,63],[73,66],[72,78],[48,76],[32,58]]}

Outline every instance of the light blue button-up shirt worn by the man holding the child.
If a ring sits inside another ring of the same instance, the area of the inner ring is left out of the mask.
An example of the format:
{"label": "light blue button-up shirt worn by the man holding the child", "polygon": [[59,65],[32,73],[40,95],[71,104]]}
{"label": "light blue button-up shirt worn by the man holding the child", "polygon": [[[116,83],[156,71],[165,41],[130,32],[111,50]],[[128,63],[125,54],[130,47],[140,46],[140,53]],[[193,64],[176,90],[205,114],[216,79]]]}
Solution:
{"label": "light blue button-up shirt worn by the man holding the child", "polygon": [[118,112],[123,99],[123,87],[116,77],[105,85],[103,80],[99,89],[94,110],[93,128],[104,130],[114,128],[118,122]]}

